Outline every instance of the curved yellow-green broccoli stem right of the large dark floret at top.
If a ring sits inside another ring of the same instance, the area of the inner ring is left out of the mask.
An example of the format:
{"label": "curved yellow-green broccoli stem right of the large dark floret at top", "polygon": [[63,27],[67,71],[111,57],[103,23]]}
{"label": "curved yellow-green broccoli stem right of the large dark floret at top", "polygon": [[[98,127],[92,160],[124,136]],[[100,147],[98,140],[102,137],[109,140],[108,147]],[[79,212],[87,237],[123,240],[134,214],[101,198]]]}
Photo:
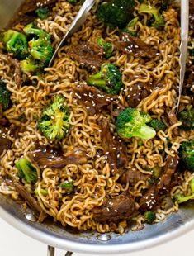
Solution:
{"label": "curved yellow-green broccoli stem right of the large dark floret at top", "polygon": [[142,3],[140,4],[138,12],[149,13],[150,15],[152,15],[154,17],[154,22],[152,23],[152,26],[154,26],[156,29],[163,27],[165,24],[163,15],[159,13],[159,8]]}

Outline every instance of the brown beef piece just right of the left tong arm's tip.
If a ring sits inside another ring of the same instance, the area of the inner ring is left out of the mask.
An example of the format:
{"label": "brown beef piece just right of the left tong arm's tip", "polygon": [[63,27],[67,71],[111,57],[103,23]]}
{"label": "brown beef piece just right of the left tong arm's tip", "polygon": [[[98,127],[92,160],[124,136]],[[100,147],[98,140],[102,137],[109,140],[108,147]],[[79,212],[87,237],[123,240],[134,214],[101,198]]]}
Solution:
{"label": "brown beef piece just right of the left tong arm's tip", "polygon": [[77,60],[79,64],[87,64],[94,68],[100,68],[106,62],[102,48],[92,42],[71,45],[67,54]]}

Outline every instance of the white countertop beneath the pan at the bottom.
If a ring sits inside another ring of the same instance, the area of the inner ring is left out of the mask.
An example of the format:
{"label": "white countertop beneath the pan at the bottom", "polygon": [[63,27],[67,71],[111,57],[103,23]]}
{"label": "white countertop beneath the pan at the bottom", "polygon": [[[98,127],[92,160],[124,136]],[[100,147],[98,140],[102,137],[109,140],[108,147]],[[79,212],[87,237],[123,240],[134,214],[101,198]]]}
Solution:
{"label": "white countertop beneath the pan at the bottom", "polygon": [[[144,251],[121,254],[123,256],[163,256],[191,254],[194,244],[194,230],[169,241]],[[1,256],[46,256],[47,246],[31,239],[20,231],[0,219],[0,255]],[[73,254],[73,256],[95,256],[96,254]],[[64,256],[64,251],[57,249],[55,256]],[[106,256],[105,254],[102,256]],[[117,255],[118,256],[118,255]]]}

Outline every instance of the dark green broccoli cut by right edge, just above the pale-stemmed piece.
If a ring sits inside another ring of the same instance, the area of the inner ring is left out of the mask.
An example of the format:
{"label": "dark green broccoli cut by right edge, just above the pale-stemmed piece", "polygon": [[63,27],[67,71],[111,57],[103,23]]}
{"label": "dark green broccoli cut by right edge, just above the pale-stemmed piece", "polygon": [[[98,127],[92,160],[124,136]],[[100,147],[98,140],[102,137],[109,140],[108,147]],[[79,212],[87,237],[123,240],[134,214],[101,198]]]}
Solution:
{"label": "dark green broccoli cut by right edge, just above the pale-stemmed piece", "polygon": [[185,167],[194,172],[194,140],[182,142],[180,155]]}

